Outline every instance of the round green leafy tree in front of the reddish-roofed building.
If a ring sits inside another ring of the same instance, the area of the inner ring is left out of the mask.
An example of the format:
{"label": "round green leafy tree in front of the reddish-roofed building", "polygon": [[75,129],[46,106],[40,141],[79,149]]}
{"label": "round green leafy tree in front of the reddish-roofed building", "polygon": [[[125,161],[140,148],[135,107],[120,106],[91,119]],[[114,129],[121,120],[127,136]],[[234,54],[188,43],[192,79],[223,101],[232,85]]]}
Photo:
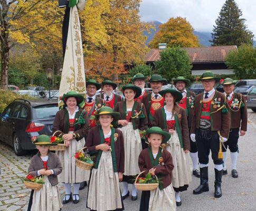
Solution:
{"label": "round green leafy tree in front of the reddish-roofed building", "polygon": [[187,52],[180,47],[168,48],[160,52],[160,60],[155,62],[157,72],[172,81],[177,76],[191,75],[191,61]]}

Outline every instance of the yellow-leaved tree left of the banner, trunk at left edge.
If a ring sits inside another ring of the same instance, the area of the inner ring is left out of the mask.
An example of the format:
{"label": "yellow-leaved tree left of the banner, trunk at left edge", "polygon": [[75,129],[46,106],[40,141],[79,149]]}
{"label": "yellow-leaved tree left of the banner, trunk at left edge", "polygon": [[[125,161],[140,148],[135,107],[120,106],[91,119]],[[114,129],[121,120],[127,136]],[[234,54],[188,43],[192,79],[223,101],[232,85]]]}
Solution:
{"label": "yellow-leaved tree left of the banner, trunk at left edge", "polygon": [[[0,0],[1,88],[7,89],[10,50],[16,44],[60,49],[63,12],[51,0]],[[37,49],[38,50],[38,49]]]}

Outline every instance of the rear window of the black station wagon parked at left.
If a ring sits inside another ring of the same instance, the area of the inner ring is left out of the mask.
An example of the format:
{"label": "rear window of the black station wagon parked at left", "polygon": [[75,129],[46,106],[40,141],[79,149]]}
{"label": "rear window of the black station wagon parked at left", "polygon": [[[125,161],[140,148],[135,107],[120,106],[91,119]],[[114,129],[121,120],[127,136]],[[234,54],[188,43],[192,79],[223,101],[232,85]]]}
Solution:
{"label": "rear window of the black station wagon parked at left", "polygon": [[40,105],[33,108],[34,119],[53,118],[58,111],[58,104]]}

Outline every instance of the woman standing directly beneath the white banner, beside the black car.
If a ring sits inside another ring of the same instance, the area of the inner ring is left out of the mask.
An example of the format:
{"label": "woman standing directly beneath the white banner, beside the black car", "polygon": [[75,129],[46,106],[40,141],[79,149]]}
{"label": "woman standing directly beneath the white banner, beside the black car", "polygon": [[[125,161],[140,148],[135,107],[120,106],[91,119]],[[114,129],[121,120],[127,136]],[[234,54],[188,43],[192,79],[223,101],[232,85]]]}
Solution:
{"label": "woman standing directly beneath the white banner, beside the black car", "polygon": [[90,171],[75,166],[74,154],[83,148],[90,129],[90,122],[87,112],[78,107],[79,103],[84,100],[82,95],[69,91],[63,94],[61,99],[64,102],[64,108],[56,113],[52,128],[52,132],[57,131],[56,136],[62,137],[67,146],[65,151],[56,151],[63,167],[58,179],[60,183],[64,183],[65,187],[65,197],[62,203],[70,202],[73,184],[72,200],[74,204],[77,204],[79,203],[80,183],[89,180]]}

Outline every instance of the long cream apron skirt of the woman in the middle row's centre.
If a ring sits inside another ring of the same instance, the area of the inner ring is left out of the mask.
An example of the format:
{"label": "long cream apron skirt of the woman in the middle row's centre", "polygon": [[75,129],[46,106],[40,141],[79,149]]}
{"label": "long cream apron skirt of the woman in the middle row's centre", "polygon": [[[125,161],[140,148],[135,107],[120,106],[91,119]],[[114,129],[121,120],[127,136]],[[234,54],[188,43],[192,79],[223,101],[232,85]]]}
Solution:
{"label": "long cream apron skirt of the woman in the middle row's centre", "polygon": [[138,160],[139,154],[142,150],[141,139],[139,135],[139,129],[134,130],[132,122],[122,128],[118,128],[122,131],[125,141],[125,176],[138,175],[140,173]]}

